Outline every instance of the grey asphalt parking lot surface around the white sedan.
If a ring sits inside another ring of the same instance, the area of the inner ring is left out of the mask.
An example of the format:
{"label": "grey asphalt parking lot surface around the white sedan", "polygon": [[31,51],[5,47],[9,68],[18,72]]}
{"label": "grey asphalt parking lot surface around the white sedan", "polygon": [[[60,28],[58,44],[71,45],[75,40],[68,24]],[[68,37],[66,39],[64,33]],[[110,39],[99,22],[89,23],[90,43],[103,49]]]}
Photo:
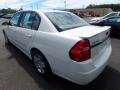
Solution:
{"label": "grey asphalt parking lot surface around the white sedan", "polygon": [[[3,22],[0,19],[0,24]],[[0,25],[0,90],[120,90],[120,40],[111,38],[112,55],[102,74],[87,86],[58,76],[43,78],[15,46],[5,45]]]}

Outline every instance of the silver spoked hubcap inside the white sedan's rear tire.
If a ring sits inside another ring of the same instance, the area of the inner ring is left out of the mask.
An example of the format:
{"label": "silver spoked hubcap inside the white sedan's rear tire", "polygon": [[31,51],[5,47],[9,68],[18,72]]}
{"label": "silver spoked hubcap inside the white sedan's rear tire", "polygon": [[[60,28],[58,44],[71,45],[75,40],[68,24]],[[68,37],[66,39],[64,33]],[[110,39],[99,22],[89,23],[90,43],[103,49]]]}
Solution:
{"label": "silver spoked hubcap inside the white sedan's rear tire", "polygon": [[37,68],[37,70],[41,73],[41,74],[44,74],[46,71],[46,66],[45,66],[45,63],[43,61],[43,58],[41,55],[39,54],[35,54],[34,55],[34,64]]}

